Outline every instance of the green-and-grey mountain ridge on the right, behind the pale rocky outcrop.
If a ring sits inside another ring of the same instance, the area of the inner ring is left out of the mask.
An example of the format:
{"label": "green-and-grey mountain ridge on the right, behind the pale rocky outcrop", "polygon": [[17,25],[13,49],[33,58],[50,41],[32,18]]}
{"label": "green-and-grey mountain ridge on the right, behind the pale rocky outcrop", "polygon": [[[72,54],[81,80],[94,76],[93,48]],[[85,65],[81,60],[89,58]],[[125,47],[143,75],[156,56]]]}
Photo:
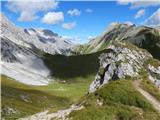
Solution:
{"label": "green-and-grey mountain ridge on the right, behind the pale rocky outcrop", "polygon": [[82,53],[101,51],[112,41],[131,42],[148,50],[153,57],[160,59],[160,30],[134,24],[112,23],[101,35],[78,49]]}

